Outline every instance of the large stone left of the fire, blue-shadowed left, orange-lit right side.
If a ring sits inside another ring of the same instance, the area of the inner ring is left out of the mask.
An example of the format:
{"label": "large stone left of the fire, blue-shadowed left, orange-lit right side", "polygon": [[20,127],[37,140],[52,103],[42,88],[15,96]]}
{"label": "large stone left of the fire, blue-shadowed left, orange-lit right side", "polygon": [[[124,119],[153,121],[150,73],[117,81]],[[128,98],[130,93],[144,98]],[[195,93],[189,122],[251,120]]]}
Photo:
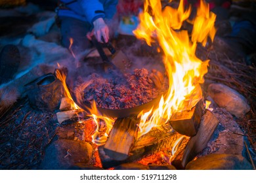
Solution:
{"label": "large stone left of the fire, blue-shadowed left, orange-lit right side", "polygon": [[92,156],[91,144],[59,139],[47,146],[39,169],[65,170],[74,166],[75,163],[89,163]]}

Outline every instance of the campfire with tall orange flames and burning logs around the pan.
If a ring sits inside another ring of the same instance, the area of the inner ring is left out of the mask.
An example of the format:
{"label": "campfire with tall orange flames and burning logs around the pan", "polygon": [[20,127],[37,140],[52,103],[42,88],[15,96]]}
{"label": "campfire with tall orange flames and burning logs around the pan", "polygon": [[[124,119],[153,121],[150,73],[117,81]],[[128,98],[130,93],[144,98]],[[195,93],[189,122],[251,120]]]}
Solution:
{"label": "campfire with tall orange flames and burning logs around the pan", "polygon": [[[65,73],[61,69],[56,71],[57,78],[63,83],[66,100],[72,103],[71,111],[57,113],[58,120],[63,122],[74,116],[81,117],[79,114],[85,114],[84,110],[87,110],[86,116],[90,119],[85,120],[85,123],[91,120],[95,123],[92,141],[98,146],[104,168],[139,160],[158,152],[162,152],[161,156],[165,156],[165,159],[169,156],[167,158],[169,163],[177,161],[175,159],[177,154],[183,153],[190,137],[198,133],[204,108],[200,84],[203,83],[203,75],[207,73],[209,60],[200,60],[195,52],[198,43],[205,46],[208,38],[213,40],[216,18],[215,14],[209,12],[209,5],[200,2],[196,18],[193,20],[188,19],[191,7],[184,8],[183,1],[179,4],[179,8],[162,8],[161,1],[145,2],[144,12],[139,15],[139,27],[134,33],[149,46],[152,42],[158,42],[163,54],[169,87],[167,92],[159,97],[159,103],[152,104],[146,110],[137,111],[137,115],[122,118],[102,115],[95,102],[92,108],[80,108],[73,101],[66,85]],[[188,31],[181,30],[184,21],[194,25],[191,37]],[[70,51],[72,52],[72,39]],[[86,81],[83,89],[89,87],[93,79],[96,80],[91,78]],[[76,92],[79,95],[82,91],[80,89]],[[79,100],[81,104],[81,97]],[[209,112],[207,115],[210,115]],[[80,120],[83,123],[84,119]],[[218,124],[214,118],[211,122],[214,122],[214,127]],[[205,123],[209,122],[206,120]],[[163,153],[167,150],[169,150],[168,154]],[[188,163],[191,157],[183,157],[183,159]],[[183,162],[183,165],[179,166],[184,168],[185,165]]]}

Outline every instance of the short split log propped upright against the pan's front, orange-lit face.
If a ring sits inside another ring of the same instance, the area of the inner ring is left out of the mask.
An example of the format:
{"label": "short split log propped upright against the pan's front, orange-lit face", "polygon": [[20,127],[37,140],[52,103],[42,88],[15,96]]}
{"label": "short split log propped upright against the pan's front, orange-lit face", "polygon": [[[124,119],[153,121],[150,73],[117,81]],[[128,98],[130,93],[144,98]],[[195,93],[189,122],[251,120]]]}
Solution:
{"label": "short split log propped upright against the pan's front, orange-lit face", "polygon": [[131,146],[137,138],[139,122],[140,119],[136,116],[117,118],[104,145],[106,155],[117,161],[127,159]]}

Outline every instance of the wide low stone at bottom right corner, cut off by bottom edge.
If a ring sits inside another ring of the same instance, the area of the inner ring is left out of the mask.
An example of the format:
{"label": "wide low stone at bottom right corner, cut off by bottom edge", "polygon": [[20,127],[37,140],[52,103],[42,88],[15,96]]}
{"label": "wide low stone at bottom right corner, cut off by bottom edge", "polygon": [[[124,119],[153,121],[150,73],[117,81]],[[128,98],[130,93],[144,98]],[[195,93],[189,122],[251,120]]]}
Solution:
{"label": "wide low stone at bottom right corner, cut off by bottom edge", "polygon": [[186,165],[186,170],[253,170],[243,156],[232,154],[209,154]]}

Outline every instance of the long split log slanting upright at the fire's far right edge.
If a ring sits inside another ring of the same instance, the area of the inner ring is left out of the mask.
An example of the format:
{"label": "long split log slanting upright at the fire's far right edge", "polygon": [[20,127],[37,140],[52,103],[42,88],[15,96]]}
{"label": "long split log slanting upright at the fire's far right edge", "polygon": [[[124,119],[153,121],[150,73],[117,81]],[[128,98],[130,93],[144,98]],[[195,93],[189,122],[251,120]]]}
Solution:
{"label": "long split log slanting upright at the fire's far right edge", "polygon": [[209,110],[206,110],[205,114],[203,114],[198,133],[196,136],[191,137],[182,154],[182,158],[181,156],[181,159],[176,158],[172,164],[178,169],[184,169],[186,164],[192,161],[205,148],[218,124],[219,120]]}

